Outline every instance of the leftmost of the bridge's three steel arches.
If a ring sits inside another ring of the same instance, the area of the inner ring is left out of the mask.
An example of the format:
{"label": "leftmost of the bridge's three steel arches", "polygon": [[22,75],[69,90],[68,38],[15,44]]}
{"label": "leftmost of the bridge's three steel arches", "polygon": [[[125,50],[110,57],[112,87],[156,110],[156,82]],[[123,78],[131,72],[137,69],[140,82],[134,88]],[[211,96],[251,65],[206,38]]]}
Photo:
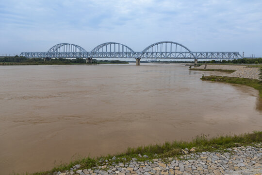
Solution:
{"label": "leftmost of the bridge's three steel arches", "polygon": [[87,53],[82,47],[69,44],[69,43],[60,43],[51,47],[48,53]]}

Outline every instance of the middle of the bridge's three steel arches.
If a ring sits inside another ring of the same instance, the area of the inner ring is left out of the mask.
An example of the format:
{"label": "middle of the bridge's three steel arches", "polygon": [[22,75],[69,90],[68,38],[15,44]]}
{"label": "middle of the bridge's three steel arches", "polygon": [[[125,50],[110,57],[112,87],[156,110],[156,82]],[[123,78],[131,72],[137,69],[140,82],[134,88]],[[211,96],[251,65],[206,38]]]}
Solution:
{"label": "middle of the bridge's three steel arches", "polygon": [[99,44],[95,47],[91,53],[134,53],[134,51],[121,43],[116,42],[107,42],[103,44]]}

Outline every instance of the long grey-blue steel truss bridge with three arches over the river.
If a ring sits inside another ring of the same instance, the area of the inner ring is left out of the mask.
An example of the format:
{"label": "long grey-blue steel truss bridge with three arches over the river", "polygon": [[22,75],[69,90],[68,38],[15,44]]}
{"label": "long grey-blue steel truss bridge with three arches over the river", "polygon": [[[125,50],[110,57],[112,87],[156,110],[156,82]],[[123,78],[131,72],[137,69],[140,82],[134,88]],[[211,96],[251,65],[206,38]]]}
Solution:
{"label": "long grey-blue steel truss bridge with three arches over the river", "polygon": [[82,47],[61,43],[48,52],[22,52],[27,58],[152,58],[152,59],[240,59],[239,52],[192,52],[184,45],[162,41],[149,45],[142,52],[134,52],[130,47],[116,42],[98,45],[91,52]]}

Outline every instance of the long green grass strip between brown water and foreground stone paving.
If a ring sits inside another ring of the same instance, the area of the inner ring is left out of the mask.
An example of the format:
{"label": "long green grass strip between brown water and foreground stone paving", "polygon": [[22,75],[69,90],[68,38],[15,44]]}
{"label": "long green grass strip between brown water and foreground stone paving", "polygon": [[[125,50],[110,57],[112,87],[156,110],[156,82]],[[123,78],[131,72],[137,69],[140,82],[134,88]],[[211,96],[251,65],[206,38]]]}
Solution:
{"label": "long green grass strip between brown water and foreground stone paving", "polygon": [[[215,151],[215,152],[223,152],[227,151],[226,148],[232,148],[237,145],[253,145],[253,143],[262,142],[262,131],[254,131],[253,133],[246,133],[241,135],[222,135],[217,136],[213,138],[209,138],[207,135],[200,135],[197,136],[195,139],[193,139],[190,142],[187,141],[173,141],[173,142],[165,142],[164,144],[155,144],[155,145],[147,145],[147,146],[140,146],[137,148],[128,148],[125,152],[115,155],[117,159],[115,160],[115,163],[118,162],[128,162],[131,160],[131,158],[135,157],[138,159],[138,161],[144,161],[144,160],[152,160],[153,158],[156,158],[154,155],[157,154],[158,158],[165,158],[165,157],[178,157],[182,155],[180,152],[181,149],[191,149],[192,147],[197,148],[197,152],[202,151]],[[140,158],[138,157],[138,154],[147,155],[148,158]],[[126,160],[123,160],[122,158],[126,158]],[[83,157],[78,160],[71,161],[67,164],[61,164],[55,168],[53,168],[50,171],[46,172],[37,172],[33,173],[32,175],[48,175],[53,172],[62,172],[69,170],[71,167],[73,167],[76,164],[81,165],[81,169],[91,169],[96,166],[101,166],[103,164],[99,163],[99,159],[112,159],[113,155],[108,155],[104,157],[97,157],[97,158],[91,158],[91,157]],[[108,166],[112,165],[114,161],[109,160]]]}

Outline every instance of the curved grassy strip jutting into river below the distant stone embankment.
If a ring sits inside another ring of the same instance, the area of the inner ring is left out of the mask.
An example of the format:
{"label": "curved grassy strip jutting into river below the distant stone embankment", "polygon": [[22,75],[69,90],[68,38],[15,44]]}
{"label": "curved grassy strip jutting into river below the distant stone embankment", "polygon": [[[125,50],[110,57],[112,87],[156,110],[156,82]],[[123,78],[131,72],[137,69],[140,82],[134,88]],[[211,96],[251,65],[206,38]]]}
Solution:
{"label": "curved grassy strip jutting into river below the distant stone embankment", "polygon": [[237,77],[226,77],[226,76],[202,76],[200,78],[201,80],[208,80],[208,81],[218,81],[218,82],[226,82],[226,83],[233,83],[233,84],[239,84],[239,85],[246,85],[253,87],[257,90],[259,90],[259,95],[262,98],[262,82],[255,79],[249,79],[249,78],[237,78]]}

